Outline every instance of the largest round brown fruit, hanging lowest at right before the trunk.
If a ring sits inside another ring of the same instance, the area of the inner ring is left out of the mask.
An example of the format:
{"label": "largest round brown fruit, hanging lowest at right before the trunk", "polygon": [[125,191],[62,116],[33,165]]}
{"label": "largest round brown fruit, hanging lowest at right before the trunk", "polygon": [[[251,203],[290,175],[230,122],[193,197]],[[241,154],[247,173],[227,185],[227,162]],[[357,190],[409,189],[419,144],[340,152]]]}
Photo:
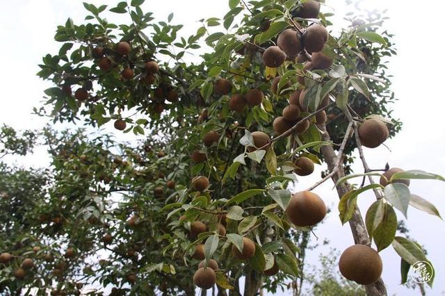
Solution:
{"label": "largest round brown fruit, hanging lowest at right before the trunk", "polygon": [[339,268],[346,279],[361,285],[370,285],[382,274],[382,259],[371,247],[353,245],[341,254]]}

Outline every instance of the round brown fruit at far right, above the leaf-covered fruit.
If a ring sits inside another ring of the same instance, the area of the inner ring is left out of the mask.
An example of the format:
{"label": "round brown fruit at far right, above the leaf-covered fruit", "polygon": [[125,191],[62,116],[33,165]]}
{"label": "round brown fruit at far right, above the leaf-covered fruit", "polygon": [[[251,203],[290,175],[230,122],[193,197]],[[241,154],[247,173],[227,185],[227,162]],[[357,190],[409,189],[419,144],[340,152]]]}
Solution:
{"label": "round brown fruit at far right, above the leaf-covered fruit", "polygon": [[366,120],[359,126],[359,137],[364,147],[379,147],[382,142],[387,140],[388,136],[388,127],[381,120]]}

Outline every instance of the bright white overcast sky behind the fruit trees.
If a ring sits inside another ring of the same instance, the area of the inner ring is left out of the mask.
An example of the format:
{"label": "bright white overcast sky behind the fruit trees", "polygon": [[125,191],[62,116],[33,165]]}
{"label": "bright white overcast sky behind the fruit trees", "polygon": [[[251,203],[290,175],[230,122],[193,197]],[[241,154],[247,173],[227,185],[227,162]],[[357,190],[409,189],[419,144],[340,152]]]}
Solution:
{"label": "bright white overcast sky behind the fruit trees", "polygon": [[[108,3],[111,7],[118,1],[91,2]],[[182,34],[186,36],[195,33],[199,26],[197,19],[222,17],[228,11],[226,0],[146,2],[144,10],[154,12],[158,20],[165,20],[169,13],[174,12],[174,22],[185,25]],[[327,0],[327,4],[335,6],[339,19],[349,11],[341,0]],[[444,75],[439,72],[445,66],[440,56],[444,45],[442,13],[445,1],[430,0],[426,5],[417,1],[364,0],[361,5],[369,9],[388,8],[390,19],[385,27],[395,34],[394,42],[398,49],[398,56],[391,58],[389,63],[389,72],[394,75],[392,89],[400,99],[394,104],[394,116],[401,118],[404,123],[402,133],[385,142],[392,152],[385,147],[365,149],[366,159],[371,167],[383,167],[388,161],[391,167],[421,169],[445,175]],[[49,87],[35,76],[37,65],[44,54],[56,54],[58,51],[60,44],[53,39],[56,26],[65,24],[67,17],[72,17],[74,23],[79,24],[83,22],[85,13],[80,0],[15,0],[2,6],[0,40],[3,45],[0,47],[0,56],[3,58],[3,67],[0,81],[3,105],[0,108],[0,124],[5,123],[16,129],[38,129],[44,126],[46,119],[31,115],[32,107],[40,106],[43,90]],[[113,132],[113,129],[106,131]],[[17,163],[45,166],[48,158],[44,149],[38,149],[33,156],[19,158]],[[316,173],[302,179],[298,188],[311,186],[317,181],[322,169],[325,168],[318,167]],[[362,167],[356,165],[355,171],[362,172]],[[410,190],[435,204],[442,216],[445,216],[444,183],[412,181]],[[332,182],[326,182],[315,192],[332,208],[332,213],[317,228],[316,234],[321,241],[327,238],[331,243],[309,253],[307,262],[311,264],[316,264],[318,254],[327,254],[330,247],[343,250],[353,244],[348,225],[342,227],[339,221],[338,197],[337,192],[332,190]],[[358,204],[363,214],[374,200],[371,194],[360,195]],[[403,216],[400,212],[397,214],[399,218]],[[426,246],[428,258],[435,264],[437,272],[434,289],[427,288],[427,295],[445,295],[445,224],[437,217],[411,207],[408,217],[410,235]],[[418,291],[408,290],[399,284],[400,258],[394,250],[388,247],[380,255],[384,265],[382,277],[389,295],[418,295]],[[280,295],[291,295],[291,292]]]}

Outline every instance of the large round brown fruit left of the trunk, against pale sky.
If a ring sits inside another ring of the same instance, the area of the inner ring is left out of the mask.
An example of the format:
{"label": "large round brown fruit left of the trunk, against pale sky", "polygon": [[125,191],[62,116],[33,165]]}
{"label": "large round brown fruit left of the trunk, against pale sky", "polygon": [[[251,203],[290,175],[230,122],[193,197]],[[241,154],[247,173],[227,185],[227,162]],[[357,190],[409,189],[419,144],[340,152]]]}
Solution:
{"label": "large round brown fruit left of the trunk, against pale sky", "polygon": [[315,193],[301,191],[291,197],[286,213],[296,226],[308,227],[323,220],[326,215],[326,205]]}

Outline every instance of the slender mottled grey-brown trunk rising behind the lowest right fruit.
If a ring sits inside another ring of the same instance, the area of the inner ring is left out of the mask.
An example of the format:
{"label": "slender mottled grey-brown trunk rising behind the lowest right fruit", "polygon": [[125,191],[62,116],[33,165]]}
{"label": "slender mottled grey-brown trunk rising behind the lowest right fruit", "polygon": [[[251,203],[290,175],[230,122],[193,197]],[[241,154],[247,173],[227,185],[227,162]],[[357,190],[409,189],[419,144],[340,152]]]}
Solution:
{"label": "slender mottled grey-brown trunk rising behind the lowest right fruit", "polygon": [[[318,126],[322,133],[323,141],[330,141],[330,136],[326,131],[325,124],[322,124]],[[321,147],[321,152],[325,158],[325,161],[327,163],[327,167],[332,172],[334,169],[335,161],[337,158],[337,155],[335,154],[334,149],[330,145],[326,145]],[[339,165],[339,170],[337,171],[337,174],[334,174],[332,176],[332,181],[336,183],[341,177],[345,176],[345,172],[343,170],[343,163]],[[337,193],[339,195],[339,198],[341,198],[343,195],[346,194],[346,192],[349,192],[351,190],[348,183],[341,183],[339,186],[337,186]],[[349,221],[350,229],[353,233],[353,238],[356,244],[361,245],[371,245],[371,240],[369,239],[368,232],[366,231],[366,227],[362,218],[362,214],[360,213],[359,208],[355,208],[355,213],[353,215],[353,218]],[[377,296],[377,295],[387,295],[387,290],[385,288],[385,283],[380,278],[378,281],[371,285],[366,285],[366,294],[369,296]]]}

